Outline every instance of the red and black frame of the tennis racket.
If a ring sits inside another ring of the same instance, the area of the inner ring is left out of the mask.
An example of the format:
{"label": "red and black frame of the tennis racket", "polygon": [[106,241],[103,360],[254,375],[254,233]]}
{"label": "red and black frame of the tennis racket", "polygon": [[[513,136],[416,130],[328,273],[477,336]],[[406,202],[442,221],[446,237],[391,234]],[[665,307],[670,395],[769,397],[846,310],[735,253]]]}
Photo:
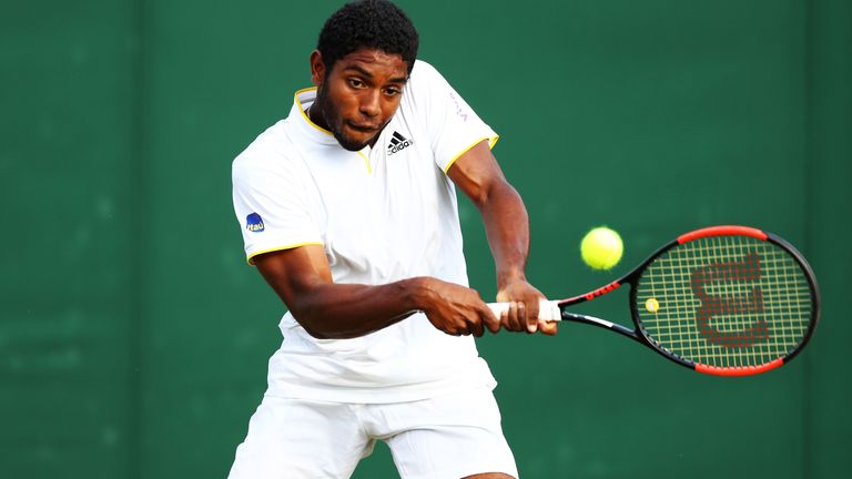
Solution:
{"label": "red and black frame of the tennis racket", "polygon": [[[799,264],[799,267],[802,269],[805,277],[808,278],[808,283],[811,288],[811,308],[812,308],[811,322],[808,326],[808,330],[805,332],[802,338],[802,342],[798,345],[797,348],[788,353],[785,356],[774,359],[767,364],[758,365],[758,366],[719,367],[719,366],[703,365],[699,363],[693,363],[689,359],[682,358],[678,355],[674,355],[666,350],[646,334],[645,328],[642,327],[641,318],[639,316],[636,295],[637,295],[637,282],[641,277],[642,272],[651,263],[653,263],[658,257],[663,255],[667,251],[676,246],[679,246],[681,244],[689,243],[691,241],[696,241],[699,238],[713,237],[713,236],[734,236],[734,235],[751,236],[761,241],[773,243],[777,246],[790,253],[790,255]],[[597,299],[600,296],[611,293],[626,284],[630,285],[630,316],[633,320],[635,329],[630,329],[617,323],[606,322],[606,320],[596,318],[594,316],[570,313],[567,310],[567,308],[570,306],[575,306],[580,303],[587,303],[587,302]],[[633,340],[637,340],[650,347],[651,349],[656,350],[663,357],[681,366],[684,366],[689,369],[692,369],[699,373],[704,373],[704,374],[710,374],[716,376],[751,376],[760,373],[765,373],[768,370],[778,368],[789,363],[804,348],[808,342],[810,342],[820,316],[820,293],[819,293],[819,286],[816,285],[816,277],[814,276],[813,271],[811,269],[811,266],[804,259],[804,256],[802,256],[802,254],[799,253],[799,251],[793,245],[791,245],[783,238],[772,233],[767,233],[761,230],[752,228],[748,226],[711,226],[711,227],[696,230],[691,233],[680,235],[672,242],[657,249],[652,255],[648,257],[648,259],[642,262],[633,271],[613,281],[612,283],[609,283],[604,287],[586,293],[585,295],[561,299],[557,302],[557,304],[559,305],[562,320],[584,323],[584,324],[589,324],[592,326],[598,326],[598,327],[613,330],[616,333],[619,333],[623,336],[627,336]]]}

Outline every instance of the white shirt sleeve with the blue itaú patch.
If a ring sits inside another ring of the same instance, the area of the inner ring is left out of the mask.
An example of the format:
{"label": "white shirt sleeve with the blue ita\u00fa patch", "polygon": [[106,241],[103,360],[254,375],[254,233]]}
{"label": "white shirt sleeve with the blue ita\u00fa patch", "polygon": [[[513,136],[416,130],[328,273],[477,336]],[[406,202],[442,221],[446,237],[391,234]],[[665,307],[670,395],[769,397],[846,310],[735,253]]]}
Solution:
{"label": "white shirt sleeve with the blue ita\u00fa patch", "polygon": [[[281,160],[281,159],[278,159]],[[248,264],[263,253],[323,244],[296,165],[242,154],[232,169],[234,212]]]}

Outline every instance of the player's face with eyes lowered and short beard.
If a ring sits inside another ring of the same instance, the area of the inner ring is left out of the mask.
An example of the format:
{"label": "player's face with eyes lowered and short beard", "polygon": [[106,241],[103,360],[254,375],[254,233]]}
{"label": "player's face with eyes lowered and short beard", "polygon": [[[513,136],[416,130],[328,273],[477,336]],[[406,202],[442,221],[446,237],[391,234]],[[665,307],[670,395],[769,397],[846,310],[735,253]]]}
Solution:
{"label": "player's face with eyes lowered and short beard", "polygon": [[315,51],[311,54],[311,70],[317,85],[311,120],[331,131],[349,151],[375,143],[396,113],[408,79],[400,55],[372,49],[349,53],[331,71]]}

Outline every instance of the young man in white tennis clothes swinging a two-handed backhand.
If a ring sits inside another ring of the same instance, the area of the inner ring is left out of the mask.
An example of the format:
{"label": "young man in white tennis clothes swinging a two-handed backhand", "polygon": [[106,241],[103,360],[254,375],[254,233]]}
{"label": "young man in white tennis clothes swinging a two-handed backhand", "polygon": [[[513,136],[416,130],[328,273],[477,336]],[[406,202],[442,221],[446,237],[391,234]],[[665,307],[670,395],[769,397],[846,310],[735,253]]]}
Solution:
{"label": "young man in white tennis clothes swinging a two-handed backhand", "polygon": [[[417,44],[394,4],[344,6],[311,54],[315,88],[234,161],[248,262],[290,312],[232,479],[347,478],[377,439],[403,478],[517,477],[471,336],[556,326],[535,319],[497,135]],[[456,186],[511,302],[500,318],[467,287]]]}

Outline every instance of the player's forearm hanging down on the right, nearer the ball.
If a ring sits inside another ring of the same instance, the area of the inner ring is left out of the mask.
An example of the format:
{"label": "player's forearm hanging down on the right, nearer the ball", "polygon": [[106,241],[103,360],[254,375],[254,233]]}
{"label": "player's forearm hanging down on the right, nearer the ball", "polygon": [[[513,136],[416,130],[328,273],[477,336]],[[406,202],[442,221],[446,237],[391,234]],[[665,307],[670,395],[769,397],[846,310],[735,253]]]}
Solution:
{"label": "player's forearm hanging down on the right, nearer the ball", "polygon": [[515,188],[500,182],[477,204],[497,269],[497,286],[524,279],[529,254],[529,215]]}

